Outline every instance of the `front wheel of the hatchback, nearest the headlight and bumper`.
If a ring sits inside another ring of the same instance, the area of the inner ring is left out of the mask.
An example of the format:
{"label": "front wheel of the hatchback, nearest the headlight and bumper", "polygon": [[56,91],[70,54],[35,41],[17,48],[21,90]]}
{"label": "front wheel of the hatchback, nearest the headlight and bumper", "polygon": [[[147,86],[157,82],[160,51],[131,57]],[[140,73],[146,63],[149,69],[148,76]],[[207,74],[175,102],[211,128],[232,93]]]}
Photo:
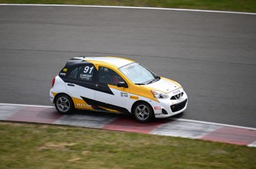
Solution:
{"label": "front wheel of the hatchback, nearest the headlight and bumper", "polygon": [[134,117],[141,123],[146,123],[154,117],[154,111],[148,103],[139,102],[134,105]]}

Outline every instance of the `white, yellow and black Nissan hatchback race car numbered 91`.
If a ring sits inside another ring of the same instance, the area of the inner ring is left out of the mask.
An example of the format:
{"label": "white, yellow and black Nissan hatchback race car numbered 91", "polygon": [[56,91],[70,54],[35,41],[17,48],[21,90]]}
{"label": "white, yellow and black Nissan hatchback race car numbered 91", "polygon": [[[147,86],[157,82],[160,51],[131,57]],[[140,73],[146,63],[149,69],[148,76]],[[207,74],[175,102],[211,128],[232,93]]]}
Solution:
{"label": "white, yellow and black Nissan hatchback race car numbered 91", "polygon": [[61,114],[73,108],[133,114],[142,123],[183,112],[188,97],[174,80],[117,57],[76,57],[53,78],[50,101]]}

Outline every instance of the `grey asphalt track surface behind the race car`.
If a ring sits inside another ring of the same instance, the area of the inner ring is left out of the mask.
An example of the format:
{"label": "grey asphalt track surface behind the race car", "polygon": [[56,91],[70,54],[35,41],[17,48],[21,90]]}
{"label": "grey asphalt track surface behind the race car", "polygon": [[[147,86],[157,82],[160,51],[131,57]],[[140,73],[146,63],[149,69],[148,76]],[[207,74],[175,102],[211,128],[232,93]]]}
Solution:
{"label": "grey asphalt track surface behind the race car", "polygon": [[256,127],[256,15],[0,6],[0,103],[51,106],[79,55],[119,55],[186,89],[183,119]]}

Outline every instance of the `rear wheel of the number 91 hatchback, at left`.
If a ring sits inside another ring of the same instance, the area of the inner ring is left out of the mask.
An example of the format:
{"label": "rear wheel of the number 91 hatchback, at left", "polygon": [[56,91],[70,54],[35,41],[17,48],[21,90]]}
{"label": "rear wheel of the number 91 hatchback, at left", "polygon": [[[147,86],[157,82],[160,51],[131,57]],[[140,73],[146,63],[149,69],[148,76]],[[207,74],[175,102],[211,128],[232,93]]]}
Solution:
{"label": "rear wheel of the number 91 hatchback, at left", "polygon": [[60,114],[70,114],[73,111],[73,100],[67,94],[59,94],[55,107]]}

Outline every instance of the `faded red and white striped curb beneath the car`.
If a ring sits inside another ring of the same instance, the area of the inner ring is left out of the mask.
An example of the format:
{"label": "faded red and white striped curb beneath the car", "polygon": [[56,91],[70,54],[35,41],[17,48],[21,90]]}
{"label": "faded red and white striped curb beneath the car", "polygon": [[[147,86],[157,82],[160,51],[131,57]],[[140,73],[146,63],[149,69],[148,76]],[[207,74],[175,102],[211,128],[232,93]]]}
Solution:
{"label": "faded red and white striped curb beneath the car", "polygon": [[168,118],[154,120],[150,123],[138,123],[133,118],[112,114],[83,113],[61,115],[53,106],[7,103],[0,103],[0,120],[102,128],[114,131],[203,139],[256,147],[256,128],[196,120]]}

